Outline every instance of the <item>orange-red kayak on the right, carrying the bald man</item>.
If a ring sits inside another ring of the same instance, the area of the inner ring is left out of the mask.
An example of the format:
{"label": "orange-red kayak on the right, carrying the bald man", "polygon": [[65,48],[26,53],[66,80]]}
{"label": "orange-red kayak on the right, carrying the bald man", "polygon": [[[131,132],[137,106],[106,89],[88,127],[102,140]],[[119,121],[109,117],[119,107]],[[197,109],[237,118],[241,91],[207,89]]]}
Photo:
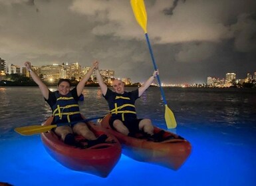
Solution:
{"label": "orange-red kayak on the right, carrying the bald man", "polygon": [[154,127],[154,134],[161,133],[163,141],[152,141],[144,138],[141,134],[137,134],[137,138],[133,138],[112,130],[108,124],[109,119],[110,114],[102,119],[100,126],[105,128],[106,132],[116,136],[122,144],[122,153],[132,159],[177,170],[191,153],[190,142],[176,134]]}

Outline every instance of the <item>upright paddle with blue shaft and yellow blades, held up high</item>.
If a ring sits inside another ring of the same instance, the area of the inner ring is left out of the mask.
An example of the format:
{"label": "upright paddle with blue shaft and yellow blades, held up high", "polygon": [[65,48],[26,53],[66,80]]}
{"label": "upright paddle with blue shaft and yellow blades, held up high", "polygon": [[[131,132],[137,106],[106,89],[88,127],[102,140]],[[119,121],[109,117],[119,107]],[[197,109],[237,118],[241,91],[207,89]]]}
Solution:
{"label": "upright paddle with blue shaft and yellow blades, held up high", "polygon": [[[151,48],[151,45],[150,45],[150,39],[148,38],[147,12],[146,12],[146,7],[145,7],[145,4],[144,4],[144,0],[130,0],[130,4],[132,5],[132,10],[134,12],[134,16],[135,16],[137,22],[139,23],[140,27],[142,27],[142,29],[144,30],[146,41],[148,43],[148,48],[150,50],[150,56],[152,58],[152,62],[153,62],[153,65],[154,65],[154,69],[157,70],[158,68],[156,66],[156,62],[155,62],[154,55],[153,55],[153,52],[152,52],[152,48]],[[162,98],[163,98],[164,104],[166,106],[166,112],[164,114],[164,117],[166,118],[167,128],[176,128],[177,123],[176,123],[176,120],[174,118],[174,113],[167,106],[166,97],[164,96],[164,90],[162,88],[159,75],[157,75],[157,78],[158,78],[158,83],[160,85]]]}

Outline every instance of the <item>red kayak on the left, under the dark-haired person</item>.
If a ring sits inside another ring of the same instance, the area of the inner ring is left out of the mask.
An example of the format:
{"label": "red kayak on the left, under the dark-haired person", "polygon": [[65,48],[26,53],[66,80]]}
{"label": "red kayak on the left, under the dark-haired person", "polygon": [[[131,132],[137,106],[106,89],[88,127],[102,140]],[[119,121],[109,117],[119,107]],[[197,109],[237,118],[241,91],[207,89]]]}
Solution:
{"label": "red kayak on the left, under the dark-haired person", "polygon": [[[53,117],[50,117],[43,126],[51,125]],[[108,136],[106,143],[100,143],[86,149],[80,149],[66,145],[52,131],[41,134],[41,140],[47,152],[59,163],[73,169],[100,177],[107,177],[120,159],[122,147],[118,140],[108,132],[104,132],[100,126],[87,122],[88,127],[98,137],[102,134]],[[82,138],[79,136],[79,138]]]}

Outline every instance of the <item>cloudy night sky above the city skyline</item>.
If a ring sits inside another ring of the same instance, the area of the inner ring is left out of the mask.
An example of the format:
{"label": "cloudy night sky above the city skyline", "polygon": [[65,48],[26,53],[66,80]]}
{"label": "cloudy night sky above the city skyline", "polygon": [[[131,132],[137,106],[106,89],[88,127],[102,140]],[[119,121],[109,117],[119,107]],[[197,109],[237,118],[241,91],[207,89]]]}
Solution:
{"label": "cloudy night sky above the city skyline", "polygon": [[[255,0],[145,0],[166,83],[256,72]],[[79,62],[143,82],[154,70],[129,0],[0,0],[0,58],[34,66]]]}

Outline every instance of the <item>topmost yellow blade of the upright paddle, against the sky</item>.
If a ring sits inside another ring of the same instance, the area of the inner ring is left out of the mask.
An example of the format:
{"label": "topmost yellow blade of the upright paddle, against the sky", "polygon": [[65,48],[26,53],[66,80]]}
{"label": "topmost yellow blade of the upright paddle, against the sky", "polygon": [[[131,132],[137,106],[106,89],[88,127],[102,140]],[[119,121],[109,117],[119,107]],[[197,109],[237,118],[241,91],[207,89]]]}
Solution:
{"label": "topmost yellow blade of the upright paddle, against the sky", "polygon": [[145,33],[147,31],[147,12],[144,4],[144,0],[131,0],[130,4],[132,6],[132,11],[134,11],[134,16],[139,23],[140,27],[144,30]]}

